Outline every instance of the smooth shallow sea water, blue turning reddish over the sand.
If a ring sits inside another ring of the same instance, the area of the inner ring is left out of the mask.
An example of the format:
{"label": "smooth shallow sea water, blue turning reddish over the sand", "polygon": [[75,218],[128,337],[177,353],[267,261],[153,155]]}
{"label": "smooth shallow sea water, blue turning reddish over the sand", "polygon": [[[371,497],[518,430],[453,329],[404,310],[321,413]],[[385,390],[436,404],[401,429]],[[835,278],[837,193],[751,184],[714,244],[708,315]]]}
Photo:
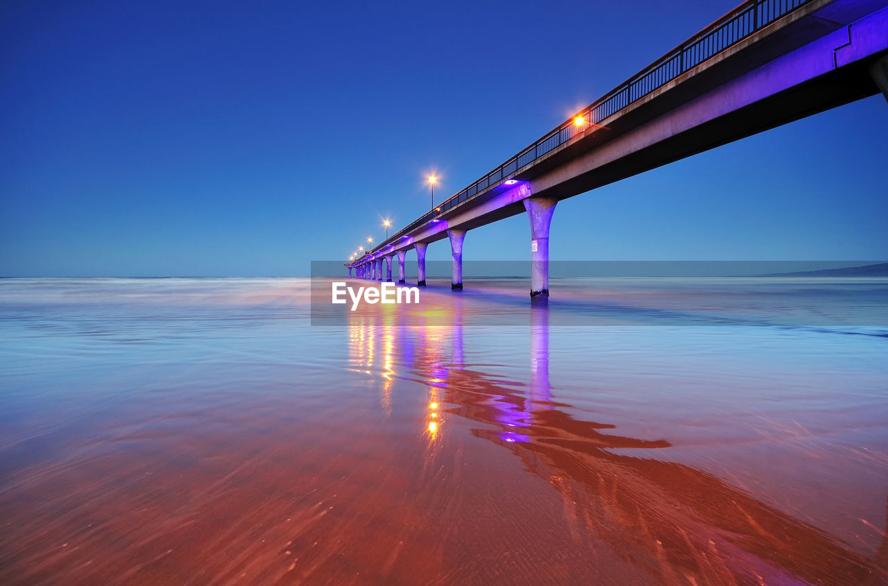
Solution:
{"label": "smooth shallow sea water, blue turning reddish over the sand", "polygon": [[0,583],[888,583],[888,279],[448,289],[0,280]]}

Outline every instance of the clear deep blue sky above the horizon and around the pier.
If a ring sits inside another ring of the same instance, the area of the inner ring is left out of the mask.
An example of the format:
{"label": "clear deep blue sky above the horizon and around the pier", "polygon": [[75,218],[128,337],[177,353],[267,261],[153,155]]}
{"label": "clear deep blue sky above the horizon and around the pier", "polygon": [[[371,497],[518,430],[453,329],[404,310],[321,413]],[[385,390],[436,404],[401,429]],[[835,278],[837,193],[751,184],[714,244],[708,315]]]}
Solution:
{"label": "clear deep blue sky above the horizon and around the pier", "polygon": [[[736,4],[3,3],[0,276],[307,274]],[[885,259],[886,137],[877,95],[579,195],[551,257]],[[464,258],[528,238],[510,218]]]}

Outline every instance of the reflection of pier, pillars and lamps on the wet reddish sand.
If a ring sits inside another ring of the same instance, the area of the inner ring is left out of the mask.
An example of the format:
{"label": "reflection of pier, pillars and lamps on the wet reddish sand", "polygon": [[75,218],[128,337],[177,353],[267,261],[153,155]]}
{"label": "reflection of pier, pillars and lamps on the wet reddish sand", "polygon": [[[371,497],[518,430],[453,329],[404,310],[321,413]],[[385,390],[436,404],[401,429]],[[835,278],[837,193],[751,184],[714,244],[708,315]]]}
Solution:
{"label": "reflection of pier, pillars and lamps on the wet reddish sand", "polygon": [[[400,376],[429,385],[432,440],[447,441],[438,418],[460,417],[559,491],[590,551],[607,543],[652,582],[670,584],[888,583],[888,539],[866,558],[709,472],[663,460],[668,439],[625,437],[613,424],[572,415],[551,392],[545,307],[532,315],[524,391],[472,367],[455,320],[451,328],[403,328],[365,316],[353,326],[364,333],[353,338],[376,338],[394,353],[383,360],[404,365]],[[650,450],[660,459],[646,457]]]}

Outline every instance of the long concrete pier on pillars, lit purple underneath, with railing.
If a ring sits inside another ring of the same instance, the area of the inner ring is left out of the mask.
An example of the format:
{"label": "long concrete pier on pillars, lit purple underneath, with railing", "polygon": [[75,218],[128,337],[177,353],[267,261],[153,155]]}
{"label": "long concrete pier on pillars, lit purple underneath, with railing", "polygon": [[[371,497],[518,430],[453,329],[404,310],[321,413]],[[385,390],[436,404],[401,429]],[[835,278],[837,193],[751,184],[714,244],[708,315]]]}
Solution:
{"label": "long concrete pier on pillars, lit purple underneath, with railing", "polygon": [[345,266],[392,281],[397,257],[403,283],[413,249],[424,286],[425,249],[447,239],[463,289],[466,234],[527,213],[530,296],[545,299],[560,201],[879,91],[888,0],[749,0]]}

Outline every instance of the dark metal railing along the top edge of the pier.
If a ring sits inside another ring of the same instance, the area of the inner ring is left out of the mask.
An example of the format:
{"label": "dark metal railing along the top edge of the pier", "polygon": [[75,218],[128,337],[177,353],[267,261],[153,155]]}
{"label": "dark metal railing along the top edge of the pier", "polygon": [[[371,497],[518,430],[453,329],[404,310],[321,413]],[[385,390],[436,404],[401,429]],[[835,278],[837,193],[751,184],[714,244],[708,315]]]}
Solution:
{"label": "dark metal railing along the top edge of the pier", "polygon": [[[542,139],[523,149],[511,157],[495,170],[490,171],[484,177],[478,179],[472,185],[465,187],[456,195],[451,196],[445,202],[433,210],[427,211],[420,218],[416,218],[408,226],[401,228],[377,245],[372,252],[377,252],[386,246],[399,240],[404,234],[412,232],[419,226],[437,218],[442,212],[448,211],[457,205],[472,199],[490,186],[503,181],[516,171],[527,167],[537,159],[551,153],[555,148],[565,144],[583,131],[599,124],[606,118],[618,113],[624,107],[644,98],[647,94],[658,90],[663,85],[670,83],[679,75],[683,75],[694,67],[700,65],[706,59],[715,57],[721,51],[729,49],[747,36],[765,28],[774,20],[780,19],[789,12],[809,4],[813,0],[747,0],[740,4],[732,12],[728,12],[722,18],[713,22],[709,27],[692,36],[684,43],[678,45],[672,51],[657,59],[651,65],[645,67],[638,74],[633,75],[626,82],[620,84],[614,90],[607,92],[603,97],[593,102],[589,107],[577,113],[575,117],[561,123],[558,128],[544,135]],[[583,123],[577,124],[575,120],[582,117]]]}

